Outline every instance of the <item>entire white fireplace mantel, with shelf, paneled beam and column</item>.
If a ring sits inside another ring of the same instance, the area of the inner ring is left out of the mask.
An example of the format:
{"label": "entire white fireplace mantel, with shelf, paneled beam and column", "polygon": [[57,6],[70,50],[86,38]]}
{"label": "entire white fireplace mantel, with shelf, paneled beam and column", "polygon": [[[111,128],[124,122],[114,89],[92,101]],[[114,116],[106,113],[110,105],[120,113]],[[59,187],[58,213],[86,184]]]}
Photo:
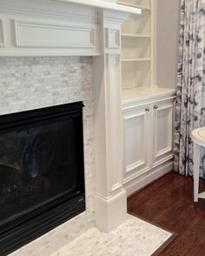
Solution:
{"label": "entire white fireplace mantel, with shelf, paneled beam and column", "polygon": [[105,0],[0,0],[0,56],[94,56],[96,226],[126,219],[121,24],[141,10]]}

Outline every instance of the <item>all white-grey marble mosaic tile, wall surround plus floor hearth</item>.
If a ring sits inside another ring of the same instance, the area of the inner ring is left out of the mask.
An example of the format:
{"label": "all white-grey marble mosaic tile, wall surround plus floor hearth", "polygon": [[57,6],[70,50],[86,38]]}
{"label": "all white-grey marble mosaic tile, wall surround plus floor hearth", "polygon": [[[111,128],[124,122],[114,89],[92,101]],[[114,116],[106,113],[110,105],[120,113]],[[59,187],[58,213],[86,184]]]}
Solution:
{"label": "all white-grey marble mosaic tile, wall surround plus floor hearth", "polygon": [[129,215],[109,234],[94,222],[94,127],[91,57],[0,57],[0,115],[83,100],[87,210],[10,256],[146,256],[171,233]]}

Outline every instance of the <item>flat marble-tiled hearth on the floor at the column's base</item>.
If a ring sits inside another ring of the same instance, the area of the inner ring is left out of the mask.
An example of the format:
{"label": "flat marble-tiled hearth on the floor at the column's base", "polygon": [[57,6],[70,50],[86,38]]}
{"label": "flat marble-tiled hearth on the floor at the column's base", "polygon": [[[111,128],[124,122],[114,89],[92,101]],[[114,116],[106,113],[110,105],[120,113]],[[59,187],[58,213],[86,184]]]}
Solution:
{"label": "flat marble-tiled hearth on the floor at the column's base", "polygon": [[162,228],[128,215],[116,230],[104,233],[91,228],[51,256],[149,256],[171,236]]}

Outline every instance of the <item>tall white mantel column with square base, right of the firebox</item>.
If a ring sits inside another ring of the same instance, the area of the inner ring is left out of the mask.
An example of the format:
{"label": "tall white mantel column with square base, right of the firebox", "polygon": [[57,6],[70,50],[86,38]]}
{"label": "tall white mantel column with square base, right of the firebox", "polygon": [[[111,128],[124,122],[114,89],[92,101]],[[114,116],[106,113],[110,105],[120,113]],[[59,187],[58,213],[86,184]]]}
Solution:
{"label": "tall white mantel column with square base, right of the firebox", "polygon": [[122,186],[121,24],[129,15],[102,10],[102,55],[94,57],[96,226],[109,232],[125,221]]}

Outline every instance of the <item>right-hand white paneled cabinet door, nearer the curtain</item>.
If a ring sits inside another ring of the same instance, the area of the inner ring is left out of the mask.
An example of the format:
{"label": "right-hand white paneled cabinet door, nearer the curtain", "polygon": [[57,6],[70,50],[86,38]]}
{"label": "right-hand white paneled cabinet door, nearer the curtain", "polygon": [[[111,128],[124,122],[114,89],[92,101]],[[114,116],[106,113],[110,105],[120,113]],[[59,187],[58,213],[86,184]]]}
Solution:
{"label": "right-hand white paneled cabinet door, nearer the curtain", "polygon": [[153,165],[172,158],[173,103],[161,103],[153,111]]}

